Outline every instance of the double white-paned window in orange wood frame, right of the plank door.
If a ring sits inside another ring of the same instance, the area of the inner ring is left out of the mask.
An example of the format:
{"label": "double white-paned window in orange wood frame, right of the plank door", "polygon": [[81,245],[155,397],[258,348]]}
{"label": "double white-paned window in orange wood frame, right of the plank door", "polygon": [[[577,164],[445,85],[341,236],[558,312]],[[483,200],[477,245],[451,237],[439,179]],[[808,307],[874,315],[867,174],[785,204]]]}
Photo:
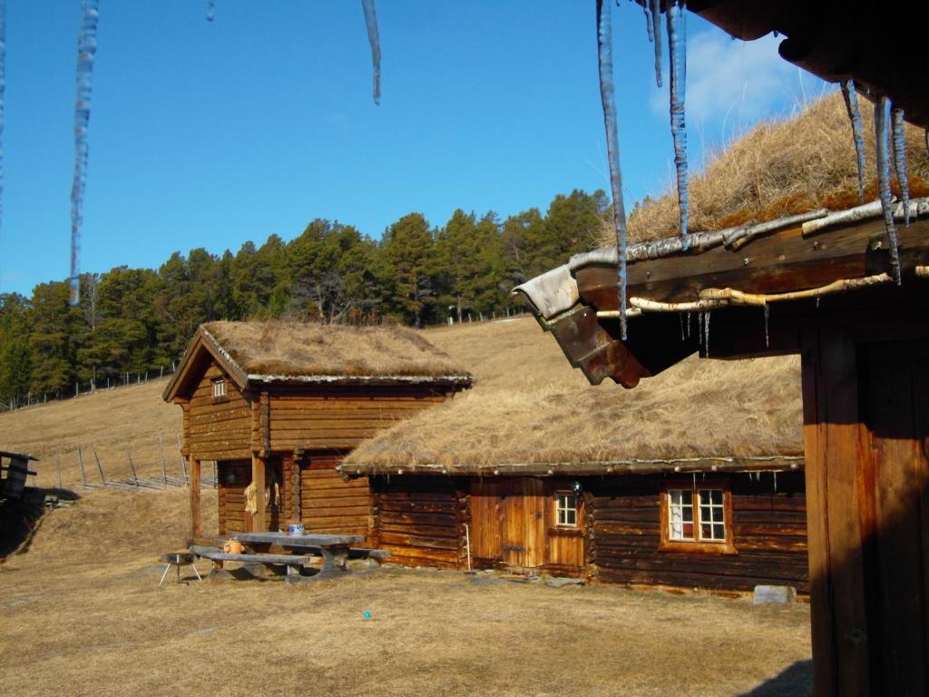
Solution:
{"label": "double white-paned window in orange wood frame, right of the plank door", "polygon": [[728,491],[713,484],[669,486],[661,493],[661,548],[735,553]]}

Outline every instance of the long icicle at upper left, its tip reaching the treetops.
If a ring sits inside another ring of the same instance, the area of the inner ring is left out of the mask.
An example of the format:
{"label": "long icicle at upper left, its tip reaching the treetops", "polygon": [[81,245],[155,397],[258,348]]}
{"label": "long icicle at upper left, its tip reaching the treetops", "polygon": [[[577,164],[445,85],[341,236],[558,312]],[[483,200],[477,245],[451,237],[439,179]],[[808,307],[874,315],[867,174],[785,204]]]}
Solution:
{"label": "long icicle at upper left, its tip reaching the treetops", "polygon": [[74,178],[71,187],[71,286],[70,302],[81,299],[79,252],[84,223],[84,190],[87,183],[87,123],[93,87],[94,55],[97,53],[99,0],[82,0],[81,33],[77,39],[77,97],[74,103]]}

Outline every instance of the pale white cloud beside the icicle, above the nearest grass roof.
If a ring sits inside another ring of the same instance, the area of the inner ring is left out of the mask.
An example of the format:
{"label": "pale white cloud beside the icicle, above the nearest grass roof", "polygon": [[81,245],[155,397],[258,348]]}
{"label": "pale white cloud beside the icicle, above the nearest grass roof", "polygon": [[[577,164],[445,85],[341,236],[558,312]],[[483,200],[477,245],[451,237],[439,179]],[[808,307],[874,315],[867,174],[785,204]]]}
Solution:
{"label": "pale white cloud beside the icicle, above the nearest grass roof", "polygon": [[[687,42],[687,125],[707,141],[726,141],[759,120],[790,113],[818,96],[824,83],[780,58],[773,34],[756,41],[701,32]],[[665,76],[667,81],[667,75]],[[650,107],[667,118],[668,91],[657,87]]]}

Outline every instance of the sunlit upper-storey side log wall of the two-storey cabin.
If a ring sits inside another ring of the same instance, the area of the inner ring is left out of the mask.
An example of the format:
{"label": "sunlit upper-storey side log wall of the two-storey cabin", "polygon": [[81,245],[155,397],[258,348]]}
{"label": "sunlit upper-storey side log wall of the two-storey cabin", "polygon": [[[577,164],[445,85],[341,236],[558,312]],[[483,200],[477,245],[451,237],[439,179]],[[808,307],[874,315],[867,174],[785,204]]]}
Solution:
{"label": "sunlit upper-storey side log wall of the two-storey cabin", "polygon": [[350,450],[383,428],[445,401],[430,388],[305,388],[304,394],[276,388],[270,396],[270,445]]}

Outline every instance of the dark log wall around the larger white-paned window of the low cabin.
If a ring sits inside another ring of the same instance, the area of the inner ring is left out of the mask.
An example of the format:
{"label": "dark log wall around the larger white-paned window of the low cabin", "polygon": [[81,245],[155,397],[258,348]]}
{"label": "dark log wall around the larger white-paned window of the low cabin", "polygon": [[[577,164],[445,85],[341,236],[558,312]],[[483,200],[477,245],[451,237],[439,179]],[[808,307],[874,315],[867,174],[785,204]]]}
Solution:
{"label": "dark log wall around the larger white-paned window of the low cabin", "polygon": [[729,475],[737,554],[660,551],[658,477],[592,480],[586,495],[591,572],[598,581],[751,591],[792,585],[809,593],[803,475]]}

